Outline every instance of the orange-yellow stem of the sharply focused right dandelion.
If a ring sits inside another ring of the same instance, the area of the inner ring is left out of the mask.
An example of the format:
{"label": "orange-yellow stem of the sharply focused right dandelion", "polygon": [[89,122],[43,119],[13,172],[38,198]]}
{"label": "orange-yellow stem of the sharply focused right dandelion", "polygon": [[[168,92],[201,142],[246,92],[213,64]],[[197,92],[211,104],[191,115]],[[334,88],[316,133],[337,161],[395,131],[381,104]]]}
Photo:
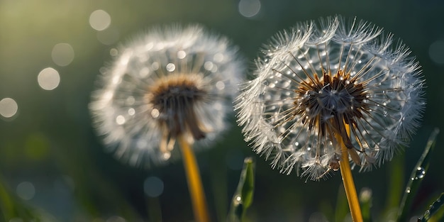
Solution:
{"label": "orange-yellow stem of the sharply focused right dandelion", "polygon": [[[347,134],[350,135],[350,128],[347,123],[345,129]],[[340,151],[342,153],[341,161],[339,162],[340,174],[343,177],[343,184],[345,189],[345,195],[347,196],[348,206],[350,207],[350,213],[354,222],[362,222],[362,213],[357,199],[355,182],[353,182],[352,171],[350,170],[350,162],[348,161],[348,148],[345,146],[343,138],[336,133],[336,140],[340,144]]]}

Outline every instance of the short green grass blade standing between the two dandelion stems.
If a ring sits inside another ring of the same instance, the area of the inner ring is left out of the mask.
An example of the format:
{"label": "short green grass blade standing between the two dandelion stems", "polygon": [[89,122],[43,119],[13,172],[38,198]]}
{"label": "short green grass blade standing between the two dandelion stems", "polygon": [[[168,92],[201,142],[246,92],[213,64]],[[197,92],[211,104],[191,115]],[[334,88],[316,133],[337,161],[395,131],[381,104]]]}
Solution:
{"label": "short green grass blade standing between the two dandelion stems", "polygon": [[240,173],[238,188],[231,201],[231,209],[228,221],[242,221],[245,212],[252,204],[252,197],[255,190],[255,166],[251,157],[243,161],[243,169]]}

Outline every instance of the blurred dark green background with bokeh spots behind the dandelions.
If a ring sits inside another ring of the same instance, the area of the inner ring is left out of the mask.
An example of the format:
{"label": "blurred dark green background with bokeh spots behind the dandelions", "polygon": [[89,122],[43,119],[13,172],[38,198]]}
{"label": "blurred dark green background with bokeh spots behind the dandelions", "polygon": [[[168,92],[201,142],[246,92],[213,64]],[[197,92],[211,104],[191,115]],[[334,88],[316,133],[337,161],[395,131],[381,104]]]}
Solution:
{"label": "blurred dark green background with bokeh spots behind the dandelions", "polygon": [[[355,184],[372,191],[374,218],[393,214],[433,128],[444,129],[444,1],[0,0],[0,221],[192,221],[182,161],[150,170],[105,152],[87,109],[94,80],[119,43],[151,26],[202,23],[231,38],[250,61],[296,21],[340,14],[365,19],[409,45],[423,67],[427,109],[409,148]],[[255,157],[248,221],[335,221],[340,173],[326,181],[279,174],[232,130],[197,153],[213,221],[222,221],[244,157]],[[423,213],[444,191],[438,136],[414,201]],[[346,203],[345,203],[346,204]]]}

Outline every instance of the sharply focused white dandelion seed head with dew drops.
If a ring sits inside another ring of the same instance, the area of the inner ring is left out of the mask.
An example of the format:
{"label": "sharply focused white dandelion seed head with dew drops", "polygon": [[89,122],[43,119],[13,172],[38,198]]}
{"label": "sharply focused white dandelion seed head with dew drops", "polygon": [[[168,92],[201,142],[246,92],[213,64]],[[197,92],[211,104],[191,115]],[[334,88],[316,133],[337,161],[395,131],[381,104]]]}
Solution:
{"label": "sharply focused white dandelion seed head with dew drops", "polygon": [[361,170],[391,160],[408,145],[426,104],[409,54],[392,34],[340,16],[278,33],[235,99],[245,140],[272,167],[310,179],[338,170],[338,136]]}

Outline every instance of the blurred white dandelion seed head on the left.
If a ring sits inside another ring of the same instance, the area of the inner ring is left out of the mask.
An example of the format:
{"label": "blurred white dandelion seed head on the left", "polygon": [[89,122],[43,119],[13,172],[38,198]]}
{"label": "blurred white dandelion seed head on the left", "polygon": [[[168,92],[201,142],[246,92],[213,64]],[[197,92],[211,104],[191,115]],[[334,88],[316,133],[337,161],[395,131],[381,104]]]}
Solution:
{"label": "blurred white dandelion seed head on the left", "polygon": [[244,71],[237,51],[197,25],[152,28],[121,47],[89,104],[106,147],[150,166],[176,156],[179,134],[208,145],[227,128]]}

